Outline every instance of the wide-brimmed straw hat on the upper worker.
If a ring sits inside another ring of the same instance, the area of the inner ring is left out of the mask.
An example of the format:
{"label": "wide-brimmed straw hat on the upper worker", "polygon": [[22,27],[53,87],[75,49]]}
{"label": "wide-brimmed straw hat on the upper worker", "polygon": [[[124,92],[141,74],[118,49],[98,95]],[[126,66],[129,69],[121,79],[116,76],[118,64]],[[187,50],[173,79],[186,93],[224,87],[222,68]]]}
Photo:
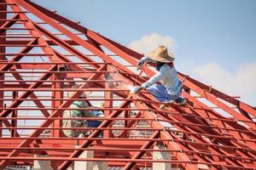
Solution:
{"label": "wide-brimmed straw hat on the upper worker", "polygon": [[169,63],[175,59],[174,55],[170,52],[168,53],[166,46],[163,45],[159,46],[153,52],[149,53],[148,57],[150,59],[154,59],[163,63]]}

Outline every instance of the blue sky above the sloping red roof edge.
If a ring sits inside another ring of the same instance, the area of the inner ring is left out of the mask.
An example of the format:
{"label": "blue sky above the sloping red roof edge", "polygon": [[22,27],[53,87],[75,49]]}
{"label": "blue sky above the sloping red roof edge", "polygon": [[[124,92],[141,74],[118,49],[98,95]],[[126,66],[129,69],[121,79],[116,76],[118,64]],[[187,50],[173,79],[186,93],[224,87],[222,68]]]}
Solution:
{"label": "blue sky above the sloping red roof edge", "polygon": [[169,38],[178,71],[256,105],[254,0],[33,2],[79,20],[83,26],[126,46],[137,41],[142,48],[143,37],[148,36],[144,39],[150,41],[153,34],[159,41]]}

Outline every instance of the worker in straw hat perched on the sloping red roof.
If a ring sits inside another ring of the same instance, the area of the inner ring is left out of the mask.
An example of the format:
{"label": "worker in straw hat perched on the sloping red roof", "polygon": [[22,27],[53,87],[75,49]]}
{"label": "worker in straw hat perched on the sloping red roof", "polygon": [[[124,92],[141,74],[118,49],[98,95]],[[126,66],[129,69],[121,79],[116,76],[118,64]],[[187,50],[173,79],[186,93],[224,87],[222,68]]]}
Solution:
{"label": "worker in straw hat perched on the sloping red roof", "polygon": [[[177,104],[184,105],[186,99],[181,96],[182,82],[177,77],[177,71],[173,65],[173,54],[168,54],[165,46],[160,46],[155,49],[148,56],[143,57],[137,63],[138,69],[141,69],[146,63],[155,63],[155,69],[157,73],[154,77],[151,77],[148,82],[144,82],[141,86],[137,86],[134,89],[134,93],[137,94],[143,88],[148,90],[150,94],[153,94],[156,99],[165,104]],[[156,82],[160,82],[156,83]],[[163,109],[165,105],[161,105]]]}

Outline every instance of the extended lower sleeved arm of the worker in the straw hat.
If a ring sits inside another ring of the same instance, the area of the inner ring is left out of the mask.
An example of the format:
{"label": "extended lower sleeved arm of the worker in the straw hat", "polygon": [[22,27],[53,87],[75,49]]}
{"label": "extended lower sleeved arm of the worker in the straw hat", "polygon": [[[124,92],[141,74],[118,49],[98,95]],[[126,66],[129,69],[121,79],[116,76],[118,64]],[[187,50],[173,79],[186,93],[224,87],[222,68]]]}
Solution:
{"label": "extended lower sleeved arm of the worker in the straw hat", "polygon": [[160,68],[160,71],[158,71],[154,77],[151,77],[148,82],[144,82],[142,84],[142,88],[148,88],[149,86],[153,85],[155,82],[160,82],[160,80],[168,74],[168,65],[163,65]]}

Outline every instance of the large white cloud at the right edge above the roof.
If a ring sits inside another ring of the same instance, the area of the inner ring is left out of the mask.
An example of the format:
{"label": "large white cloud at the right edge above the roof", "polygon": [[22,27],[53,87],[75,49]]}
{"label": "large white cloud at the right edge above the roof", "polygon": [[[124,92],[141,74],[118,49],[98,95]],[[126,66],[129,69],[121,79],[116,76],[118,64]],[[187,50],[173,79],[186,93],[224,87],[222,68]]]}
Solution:
{"label": "large white cloud at the right edge above the roof", "polygon": [[211,62],[196,66],[193,69],[193,76],[199,77],[199,81],[210,84],[226,94],[239,95],[241,100],[256,105],[256,62],[241,65],[234,72],[225,70],[216,62]]}

